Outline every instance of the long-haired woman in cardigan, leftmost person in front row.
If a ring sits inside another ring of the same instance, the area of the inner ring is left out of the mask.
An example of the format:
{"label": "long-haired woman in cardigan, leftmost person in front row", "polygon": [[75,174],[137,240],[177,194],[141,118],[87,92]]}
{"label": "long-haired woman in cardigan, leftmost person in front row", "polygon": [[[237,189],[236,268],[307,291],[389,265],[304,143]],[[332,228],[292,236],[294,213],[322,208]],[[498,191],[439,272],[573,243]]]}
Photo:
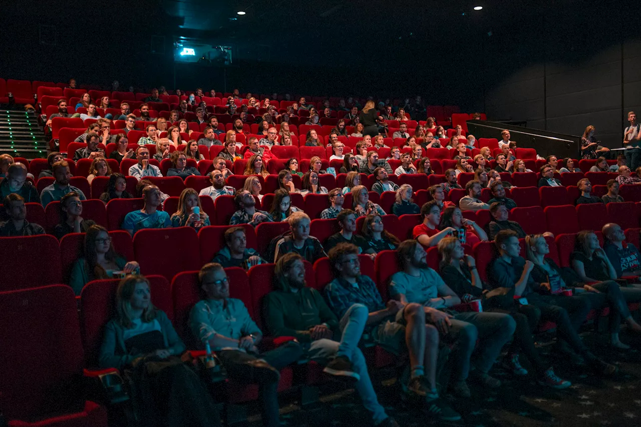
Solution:
{"label": "long-haired woman in cardigan, leftmost person in front row", "polygon": [[143,387],[134,395],[146,426],[219,426],[220,415],[199,376],[183,364],[185,352],[167,315],[151,303],[144,276],[121,280],[115,317],[104,328],[101,368],[128,370]]}

